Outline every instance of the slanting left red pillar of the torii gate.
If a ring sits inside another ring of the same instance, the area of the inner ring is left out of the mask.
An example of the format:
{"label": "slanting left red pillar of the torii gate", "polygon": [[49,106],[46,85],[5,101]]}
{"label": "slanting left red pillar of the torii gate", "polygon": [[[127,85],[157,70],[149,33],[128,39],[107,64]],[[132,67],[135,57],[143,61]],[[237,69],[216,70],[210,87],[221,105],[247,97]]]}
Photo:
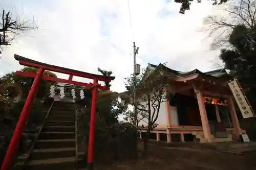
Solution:
{"label": "slanting left red pillar of the torii gate", "polygon": [[29,112],[31,110],[31,106],[34,103],[34,99],[38,90],[40,77],[44,75],[44,69],[39,68],[37,71],[37,75],[35,77],[35,80],[32,84],[31,90],[29,91],[29,95],[27,97],[26,103],[23,107],[22,113],[20,113],[18,123],[16,125],[16,128],[14,130],[11,142],[9,144],[7,153],[5,155],[5,159],[3,161],[3,164],[1,166],[1,170],[8,170],[12,164],[12,160],[15,156],[15,151],[18,147],[20,137],[22,136],[23,129],[26,125],[26,122],[29,117]]}

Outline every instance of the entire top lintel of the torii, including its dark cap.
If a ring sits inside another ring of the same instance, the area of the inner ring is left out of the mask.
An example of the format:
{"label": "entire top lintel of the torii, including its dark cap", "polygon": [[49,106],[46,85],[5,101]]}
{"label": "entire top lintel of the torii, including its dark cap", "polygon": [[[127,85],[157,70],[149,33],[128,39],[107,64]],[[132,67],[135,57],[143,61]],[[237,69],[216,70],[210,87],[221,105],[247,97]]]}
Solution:
{"label": "entire top lintel of the torii, including its dark cap", "polygon": [[60,67],[60,66],[56,66],[56,65],[50,65],[50,64],[38,62],[35,60],[31,60],[29,58],[22,57],[22,56],[19,56],[16,54],[14,54],[14,58],[15,58],[15,60],[19,61],[20,65],[24,65],[24,66],[35,67],[35,68],[39,68],[42,66],[46,70],[60,72],[63,74],[69,74],[69,75],[73,75],[73,76],[89,78],[89,79],[97,78],[99,81],[110,82],[115,79],[115,77],[113,77],[113,76],[96,75],[96,74],[91,74],[89,72],[78,71],[78,70]]}

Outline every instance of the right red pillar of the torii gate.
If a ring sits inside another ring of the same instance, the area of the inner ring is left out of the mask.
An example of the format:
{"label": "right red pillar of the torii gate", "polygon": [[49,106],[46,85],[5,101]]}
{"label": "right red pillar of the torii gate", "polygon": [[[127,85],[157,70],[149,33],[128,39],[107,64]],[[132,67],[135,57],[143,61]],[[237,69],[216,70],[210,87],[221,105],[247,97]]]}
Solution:
{"label": "right red pillar of the torii gate", "polygon": [[96,119],[96,104],[97,104],[97,84],[98,84],[98,80],[95,78],[93,81],[94,87],[92,92],[91,120],[90,120],[88,160],[87,160],[89,170],[93,169],[95,119]]}

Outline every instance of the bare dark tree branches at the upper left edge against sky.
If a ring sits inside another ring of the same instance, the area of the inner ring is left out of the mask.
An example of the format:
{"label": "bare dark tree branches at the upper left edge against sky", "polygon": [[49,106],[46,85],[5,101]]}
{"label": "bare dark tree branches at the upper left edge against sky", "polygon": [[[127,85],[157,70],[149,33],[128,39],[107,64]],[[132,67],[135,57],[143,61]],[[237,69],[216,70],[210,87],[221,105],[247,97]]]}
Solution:
{"label": "bare dark tree branches at the upper left edge against sky", "polygon": [[6,12],[3,9],[0,17],[0,54],[3,51],[3,46],[11,45],[16,35],[38,28],[29,19],[23,20],[19,16],[14,17],[11,11]]}

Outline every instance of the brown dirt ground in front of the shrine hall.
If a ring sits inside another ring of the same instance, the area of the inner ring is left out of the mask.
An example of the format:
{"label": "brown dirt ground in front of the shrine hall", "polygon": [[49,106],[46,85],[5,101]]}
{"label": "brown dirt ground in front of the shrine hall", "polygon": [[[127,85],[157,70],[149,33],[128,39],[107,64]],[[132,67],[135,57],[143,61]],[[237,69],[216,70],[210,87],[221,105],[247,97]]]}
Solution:
{"label": "brown dirt ground in front of the shrine hall", "polygon": [[[139,143],[139,151],[142,151],[143,143]],[[124,153],[125,154],[125,153]],[[256,169],[255,151],[247,151],[238,154],[224,153],[210,147],[202,147],[201,144],[191,145],[149,145],[148,157],[143,159],[139,153],[137,161],[129,160],[109,164],[97,165],[97,170],[200,170],[200,169]]]}

